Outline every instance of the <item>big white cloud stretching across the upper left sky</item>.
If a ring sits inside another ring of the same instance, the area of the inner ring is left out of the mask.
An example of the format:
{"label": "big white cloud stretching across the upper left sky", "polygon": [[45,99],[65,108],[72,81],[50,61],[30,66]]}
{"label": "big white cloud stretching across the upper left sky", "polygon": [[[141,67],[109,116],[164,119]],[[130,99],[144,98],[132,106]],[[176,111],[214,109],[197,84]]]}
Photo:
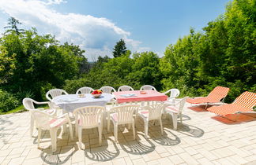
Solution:
{"label": "big white cloud stretching across the upper left sky", "polygon": [[132,51],[149,50],[140,47],[141,42],[131,38],[111,20],[77,13],[58,13],[51,5],[63,0],[1,0],[0,11],[15,17],[28,27],[36,27],[41,33],[51,33],[61,42],[73,42],[85,49],[86,57],[93,61],[97,56],[111,55],[112,48],[124,38]]}

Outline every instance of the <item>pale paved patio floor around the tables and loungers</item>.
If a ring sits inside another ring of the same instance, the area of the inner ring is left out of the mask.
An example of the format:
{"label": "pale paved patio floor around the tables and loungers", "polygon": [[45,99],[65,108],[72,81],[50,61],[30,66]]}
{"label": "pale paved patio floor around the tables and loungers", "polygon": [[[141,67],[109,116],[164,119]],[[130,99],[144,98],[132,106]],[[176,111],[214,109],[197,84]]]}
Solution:
{"label": "pale paved patio floor around the tables and loungers", "polygon": [[[239,116],[237,122],[223,119],[203,108],[186,104],[183,125],[172,130],[171,119],[160,126],[149,126],[149,139],[144,138],[144,124],[136,121],[137,140],[132,131],[119,127],[119,143],[104,130],[103,145],[98,145],[96,129],[83,131],[85,150],[77,148],[77,138],[59,134],[58,149],[51,153],[48,131],[37,148],[37,132],[29,137],[28,112],[0,116],[1,164],[256,164],[256,120]],[[194,109],[194,110],[191,110]],[[111,127],[113,129],[113,127]],[[111,130],[113,132],[113,130]],[[58,133],[61,133],[59,130]]]}

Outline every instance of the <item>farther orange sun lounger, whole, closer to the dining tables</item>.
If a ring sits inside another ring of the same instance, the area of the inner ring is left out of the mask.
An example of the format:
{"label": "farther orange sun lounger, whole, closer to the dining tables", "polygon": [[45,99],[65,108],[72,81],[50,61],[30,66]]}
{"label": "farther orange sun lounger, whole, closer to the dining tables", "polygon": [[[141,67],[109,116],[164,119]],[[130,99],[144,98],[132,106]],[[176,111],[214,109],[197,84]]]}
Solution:
{"label": "farther orange sun lounger, whole, closer to the dining tables", "polygon": [[[199,98],[188,98],[186,102],[190,104],[202,104],[206,103],[217,103],[220,101],[224,102],[224,98],[228,95],[229,88],[223,86],[216,86],[212,92],[209,93],[207,97],[199,97]],[[206,107],[207,107],[206,105]],[[205,108],[206,108],[205,107]]]}

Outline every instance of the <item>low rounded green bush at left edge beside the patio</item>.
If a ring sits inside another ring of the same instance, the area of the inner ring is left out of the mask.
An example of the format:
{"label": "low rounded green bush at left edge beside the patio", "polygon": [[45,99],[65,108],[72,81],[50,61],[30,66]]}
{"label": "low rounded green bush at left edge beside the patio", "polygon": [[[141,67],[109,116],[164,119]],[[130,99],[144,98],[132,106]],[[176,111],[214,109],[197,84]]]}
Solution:
{"label": "low rounded green bush at left edge beside the patio", "polygon": [[13,94],[0,89],[0,112],[8,112],[19,105],[19,101]]}

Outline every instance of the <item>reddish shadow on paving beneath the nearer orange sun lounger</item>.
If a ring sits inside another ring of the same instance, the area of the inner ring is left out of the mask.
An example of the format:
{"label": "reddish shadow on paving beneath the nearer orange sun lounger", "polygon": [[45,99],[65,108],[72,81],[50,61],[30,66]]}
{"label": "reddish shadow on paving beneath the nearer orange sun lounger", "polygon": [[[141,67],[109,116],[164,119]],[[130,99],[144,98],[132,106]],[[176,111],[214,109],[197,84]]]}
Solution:
{"label": "reddish shadow on paving beneath the nearer orange sun lounger", "polygon": [[211,118],[224,124],[239,124],[255,121],[256,114],[235,114],[233,116],[213,116]]}

